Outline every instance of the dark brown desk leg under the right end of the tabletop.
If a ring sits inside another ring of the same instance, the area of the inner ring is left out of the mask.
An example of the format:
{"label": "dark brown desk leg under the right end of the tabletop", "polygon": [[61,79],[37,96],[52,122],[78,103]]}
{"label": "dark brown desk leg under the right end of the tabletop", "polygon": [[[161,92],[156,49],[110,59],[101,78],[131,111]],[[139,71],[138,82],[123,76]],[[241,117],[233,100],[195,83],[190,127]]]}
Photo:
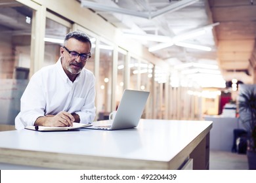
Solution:
{"label": "dark brown desk leg under the right end of the tabletop", "polygon": [[209,169],[209,133],[192,151],[190,158],[193,159],[194,170]]}

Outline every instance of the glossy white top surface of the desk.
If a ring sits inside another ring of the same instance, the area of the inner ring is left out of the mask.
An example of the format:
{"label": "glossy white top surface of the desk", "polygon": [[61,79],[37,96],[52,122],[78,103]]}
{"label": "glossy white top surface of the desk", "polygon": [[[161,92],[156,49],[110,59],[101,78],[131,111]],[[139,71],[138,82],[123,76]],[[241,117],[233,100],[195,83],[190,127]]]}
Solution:
{"label": "glossy white top surface of the desk", "polygon": [[0,133],[0,148],[83,156],[169,161],[211,127],[207,121],[140,120],[135,129]]}

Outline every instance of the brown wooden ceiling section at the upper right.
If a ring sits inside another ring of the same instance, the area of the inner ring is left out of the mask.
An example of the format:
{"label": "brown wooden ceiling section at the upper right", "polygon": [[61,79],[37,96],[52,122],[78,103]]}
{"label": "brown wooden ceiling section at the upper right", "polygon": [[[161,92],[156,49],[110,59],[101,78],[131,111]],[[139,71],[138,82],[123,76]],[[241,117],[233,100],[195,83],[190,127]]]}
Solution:
{"label": "brown wooden ceiling section at the upper right", "polygon": [[[256,1],[209,0],[213,22],[221,24],[216,29],[217,55],[223,75],[245,83],[255,83]],[[234,75],[234,74],[233,74]]]}

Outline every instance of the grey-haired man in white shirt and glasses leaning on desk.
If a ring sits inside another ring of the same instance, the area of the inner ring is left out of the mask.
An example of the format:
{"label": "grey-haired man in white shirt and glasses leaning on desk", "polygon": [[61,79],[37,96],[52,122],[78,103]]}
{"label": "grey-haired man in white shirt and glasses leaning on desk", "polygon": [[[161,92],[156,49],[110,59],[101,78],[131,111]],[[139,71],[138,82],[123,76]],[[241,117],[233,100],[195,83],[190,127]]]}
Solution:
{"label": "grey-haired man in white shirt and glasses leaning on desk", "polygon": [[72,126],[95,119],[95,76],[84,68],[91,58],[91,41],[74,31],[64,39],[60,58],[35,73],[20,99],[16,129],[26,125]]}

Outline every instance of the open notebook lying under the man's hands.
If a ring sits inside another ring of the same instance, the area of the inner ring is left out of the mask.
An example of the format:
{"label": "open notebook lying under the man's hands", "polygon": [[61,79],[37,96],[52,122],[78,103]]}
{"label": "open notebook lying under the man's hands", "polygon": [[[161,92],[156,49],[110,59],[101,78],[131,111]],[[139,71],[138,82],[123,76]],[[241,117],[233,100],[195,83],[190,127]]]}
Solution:
{"label": "open notebook lying under the man's hands", "polygon": [[51,127],[51,126],[26,126],[25,129],[31,129],[35,131],[68,131],[72,129],[78,129],[82,127],[89,127],[91,124],[79,124],[79,123],[73,123],[73,126],[69,127]]}

